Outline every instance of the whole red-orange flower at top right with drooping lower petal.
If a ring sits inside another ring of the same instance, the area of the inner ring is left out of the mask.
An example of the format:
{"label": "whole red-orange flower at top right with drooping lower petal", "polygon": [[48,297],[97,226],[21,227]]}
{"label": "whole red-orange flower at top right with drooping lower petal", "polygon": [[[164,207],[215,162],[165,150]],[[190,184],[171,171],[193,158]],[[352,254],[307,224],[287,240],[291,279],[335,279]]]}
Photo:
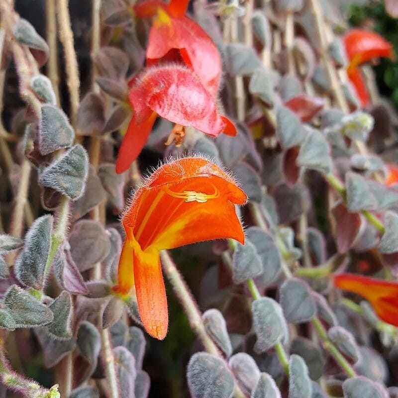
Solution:
{"label": "whole red-orange flower at top right with drooping lower petal", "polygon": [[379,57],[393,57],[393,45],[378,33],[365,29],[351,29],[343,37],[349,65],[347,74],[357,91],[362,106],[369,102],[369,95],[358,66]]}

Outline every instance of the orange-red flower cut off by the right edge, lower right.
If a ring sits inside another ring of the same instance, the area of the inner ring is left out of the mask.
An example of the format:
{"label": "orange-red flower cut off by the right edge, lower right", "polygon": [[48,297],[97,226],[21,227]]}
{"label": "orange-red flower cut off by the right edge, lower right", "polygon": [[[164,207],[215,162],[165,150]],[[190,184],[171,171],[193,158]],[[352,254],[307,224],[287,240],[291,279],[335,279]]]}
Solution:
{"label": "orange-red flower cut off by the right edge, lower right", "polygon": [[380,319],[398,326],[398,283],[355,274],[334,277],[334,285],[366,298]]}

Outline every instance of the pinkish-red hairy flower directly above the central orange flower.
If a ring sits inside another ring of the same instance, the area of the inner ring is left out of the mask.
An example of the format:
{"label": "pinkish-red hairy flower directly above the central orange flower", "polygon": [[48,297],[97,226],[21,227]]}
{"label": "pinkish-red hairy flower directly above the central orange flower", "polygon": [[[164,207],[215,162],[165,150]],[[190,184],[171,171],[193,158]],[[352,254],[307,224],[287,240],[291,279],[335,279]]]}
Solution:
{"label": "pinkish-red hairy flower directly above the central orange flower", "polygon": [[116,173],[127,170],[138,157],[157,115],[176,123],[181,135],[184,126],[193,126],[212,137],[222,132],[236,135],[234,124],[218,113],[215,100],[199,77],[182,65],[146,69],[134,79],[129,101],[134,115],[119,149]]}

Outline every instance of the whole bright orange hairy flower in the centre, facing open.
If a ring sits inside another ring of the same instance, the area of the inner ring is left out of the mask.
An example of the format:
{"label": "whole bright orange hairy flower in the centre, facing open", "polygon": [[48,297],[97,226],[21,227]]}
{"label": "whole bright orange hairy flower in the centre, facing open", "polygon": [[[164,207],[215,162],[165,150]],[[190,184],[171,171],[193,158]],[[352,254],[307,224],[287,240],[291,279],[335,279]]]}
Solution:
{"label": "whole bright orange hairy flower in the centre, facing open", "polygon": [[187,157],[159,167],[135,193],[122,215],[126,231],[116,294],[133,286],[145,330],[162,340],[168,311],[159,251],[204,240],[232,238],[244,243],[235,204],[246,194],[214,163]]}

